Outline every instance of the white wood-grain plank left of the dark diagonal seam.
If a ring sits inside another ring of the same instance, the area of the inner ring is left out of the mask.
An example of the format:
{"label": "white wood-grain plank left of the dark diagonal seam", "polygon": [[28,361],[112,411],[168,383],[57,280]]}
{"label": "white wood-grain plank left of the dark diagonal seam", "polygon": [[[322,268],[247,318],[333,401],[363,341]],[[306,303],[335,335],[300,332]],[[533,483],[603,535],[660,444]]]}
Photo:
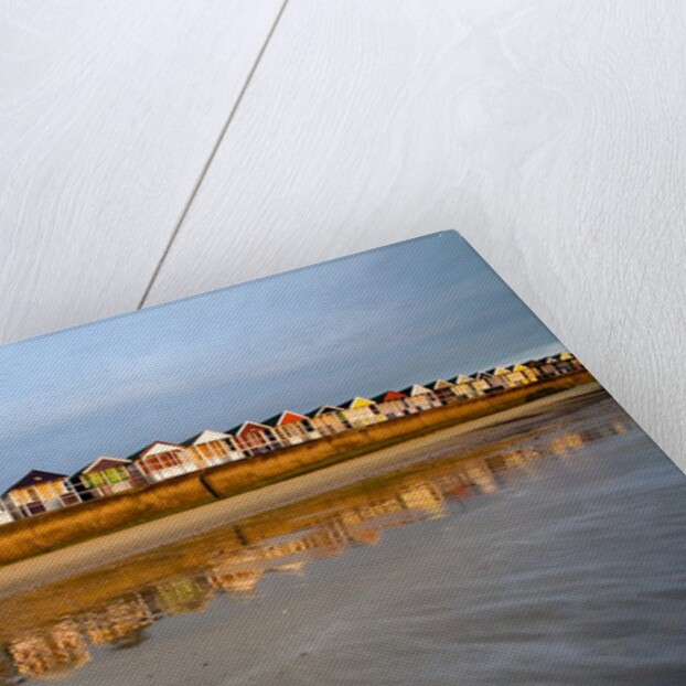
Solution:
{"label": "white wood-grain plank left of the dark diagonal seam", "polygon": [[2,341],[137,307],[280,7],[3,6]]}

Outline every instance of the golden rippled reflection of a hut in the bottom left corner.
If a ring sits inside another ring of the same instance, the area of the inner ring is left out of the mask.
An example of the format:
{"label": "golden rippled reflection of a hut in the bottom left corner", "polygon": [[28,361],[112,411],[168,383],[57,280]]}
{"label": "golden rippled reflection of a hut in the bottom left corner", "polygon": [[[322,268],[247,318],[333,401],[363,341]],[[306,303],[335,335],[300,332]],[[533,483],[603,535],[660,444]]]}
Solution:
{"label": "golden rippled reflection of a hut in the bottom left corner", "polygon": [[90,661],[88,646],[69,620],[13,641],[9,653],[14,668],[30,678],[63,679]]}

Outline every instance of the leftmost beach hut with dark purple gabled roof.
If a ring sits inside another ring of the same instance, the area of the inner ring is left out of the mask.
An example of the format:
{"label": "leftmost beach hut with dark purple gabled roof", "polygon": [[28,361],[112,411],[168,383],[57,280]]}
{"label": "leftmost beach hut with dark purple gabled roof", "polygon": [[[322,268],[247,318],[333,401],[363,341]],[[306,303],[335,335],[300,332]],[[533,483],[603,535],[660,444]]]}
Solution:
{"label": "leftmost beach hut with dark purple gabled roof", "polygon": [[4,507],[17,518],[81,502],[66,474],[31,470],[2,494]]}

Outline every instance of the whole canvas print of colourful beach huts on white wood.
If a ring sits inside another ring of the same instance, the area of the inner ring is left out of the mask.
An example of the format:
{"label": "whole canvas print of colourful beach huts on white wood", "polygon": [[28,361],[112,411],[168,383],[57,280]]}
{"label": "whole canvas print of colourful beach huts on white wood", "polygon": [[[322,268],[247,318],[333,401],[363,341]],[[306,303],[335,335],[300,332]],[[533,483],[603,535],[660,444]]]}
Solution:
{"label": "whole canvas print of colourful beach huts on white wood", "polygon": [[684,475],[454,232],[0,394],[0,684],[686,683]]}

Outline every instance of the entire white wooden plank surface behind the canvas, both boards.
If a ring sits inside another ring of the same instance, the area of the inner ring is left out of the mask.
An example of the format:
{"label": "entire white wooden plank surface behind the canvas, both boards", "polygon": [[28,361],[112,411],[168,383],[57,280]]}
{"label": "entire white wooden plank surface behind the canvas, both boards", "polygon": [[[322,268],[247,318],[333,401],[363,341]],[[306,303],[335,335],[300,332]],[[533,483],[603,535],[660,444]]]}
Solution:
{"label": "entire white wooden plank surface behind the canvas, both boards", "polygon": [[686,469],[679,0],[0,12],[2,341],[457,228]]}

